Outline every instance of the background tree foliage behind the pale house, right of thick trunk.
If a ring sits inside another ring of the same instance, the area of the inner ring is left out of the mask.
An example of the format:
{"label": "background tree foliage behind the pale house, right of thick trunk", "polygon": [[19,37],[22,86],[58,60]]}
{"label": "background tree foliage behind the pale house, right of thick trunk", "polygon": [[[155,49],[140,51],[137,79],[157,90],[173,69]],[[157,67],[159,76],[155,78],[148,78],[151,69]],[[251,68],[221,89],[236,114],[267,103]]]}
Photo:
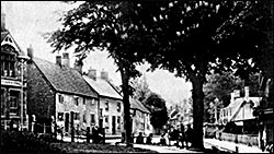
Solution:
{"label": "background tree foliage behind the pale house, right of thick trunk", "polygon": [[[259,73],[249,75],[249,95],[259,96]],[[207,83],[204,85],[204,105],[205,105],[205,121],[213,122],[215,112],[215,99],[217,102],[217,110],[226,107],[230,103],[230,93],[233,90],[240,91],[240,97],[244,96],[244,80],[235,76],[232,72],[222,72],[221,74],[210,74],[207,76]]]}

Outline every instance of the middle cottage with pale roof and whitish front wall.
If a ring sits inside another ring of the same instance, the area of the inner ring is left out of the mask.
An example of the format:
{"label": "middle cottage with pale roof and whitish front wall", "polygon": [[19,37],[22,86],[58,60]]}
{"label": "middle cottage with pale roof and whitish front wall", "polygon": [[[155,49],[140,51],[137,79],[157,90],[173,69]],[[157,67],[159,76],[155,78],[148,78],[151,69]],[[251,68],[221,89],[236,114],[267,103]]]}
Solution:
{"label": "middle cottage with pale roof and whitish front wall", "polygon": [[89,69],[83,79],[99,96],[99,127],[105,128],[105,134],[121,134],[124,121],[123,97],[111,85],[107,72],[102,71],[98,78],[96,70]]}

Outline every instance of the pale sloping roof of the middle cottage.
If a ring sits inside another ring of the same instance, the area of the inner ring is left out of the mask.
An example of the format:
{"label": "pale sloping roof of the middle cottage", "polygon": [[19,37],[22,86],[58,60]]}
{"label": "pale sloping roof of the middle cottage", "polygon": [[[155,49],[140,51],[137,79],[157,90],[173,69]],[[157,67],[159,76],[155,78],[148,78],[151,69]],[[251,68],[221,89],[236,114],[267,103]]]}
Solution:
{"label": "pale sloping roof of the middle cottage", "polygon": [[93,80],[88,75],[83,75],[83,79],[94,91],[96,91],[99,95],[121,100],[123,99],[123,97],[118,94],[118,92],[115,91],[107,81],[100,78]]}

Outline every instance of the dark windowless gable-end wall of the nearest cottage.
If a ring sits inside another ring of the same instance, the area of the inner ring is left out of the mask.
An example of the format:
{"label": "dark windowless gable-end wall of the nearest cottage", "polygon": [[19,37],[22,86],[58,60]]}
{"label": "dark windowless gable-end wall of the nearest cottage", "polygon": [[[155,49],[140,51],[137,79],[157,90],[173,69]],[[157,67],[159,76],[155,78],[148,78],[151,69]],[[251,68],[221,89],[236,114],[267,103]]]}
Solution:
{"label": "dark windowless gable-end wall of the nearest cottage", "polygon": [[27,114],[37,122],[55,116],[55,90],[33,62],[27,64]]}

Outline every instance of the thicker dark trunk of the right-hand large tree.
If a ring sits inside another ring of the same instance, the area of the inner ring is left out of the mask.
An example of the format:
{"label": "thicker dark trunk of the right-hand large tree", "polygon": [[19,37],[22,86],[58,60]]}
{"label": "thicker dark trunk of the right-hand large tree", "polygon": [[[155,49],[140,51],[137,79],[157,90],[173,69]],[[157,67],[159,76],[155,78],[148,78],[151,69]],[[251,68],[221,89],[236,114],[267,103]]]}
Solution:
{"label": "thicker dark trunk of the right-hand large tree", "polygon": [[191,137],[193,140],[194,149],[204,149],[203,141],[203,120],[204,120],[204,92],[203,92],[203,79],[192,78],[192,98],[193,98],[193,131],[195,137]]}

